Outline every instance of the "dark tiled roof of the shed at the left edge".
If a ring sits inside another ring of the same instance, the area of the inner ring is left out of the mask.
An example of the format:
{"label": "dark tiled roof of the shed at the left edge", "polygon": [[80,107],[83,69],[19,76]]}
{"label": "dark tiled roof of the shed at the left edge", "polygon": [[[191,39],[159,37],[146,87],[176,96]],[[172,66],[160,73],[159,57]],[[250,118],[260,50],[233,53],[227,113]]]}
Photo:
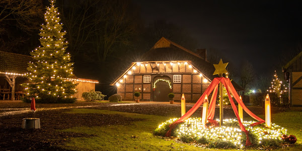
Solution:
{"label": "dark tiled roof of the shed at the left edge", "polygon": [[33,61],[31,56],[0,51],[0,73],[24,74],[29,61]]}

